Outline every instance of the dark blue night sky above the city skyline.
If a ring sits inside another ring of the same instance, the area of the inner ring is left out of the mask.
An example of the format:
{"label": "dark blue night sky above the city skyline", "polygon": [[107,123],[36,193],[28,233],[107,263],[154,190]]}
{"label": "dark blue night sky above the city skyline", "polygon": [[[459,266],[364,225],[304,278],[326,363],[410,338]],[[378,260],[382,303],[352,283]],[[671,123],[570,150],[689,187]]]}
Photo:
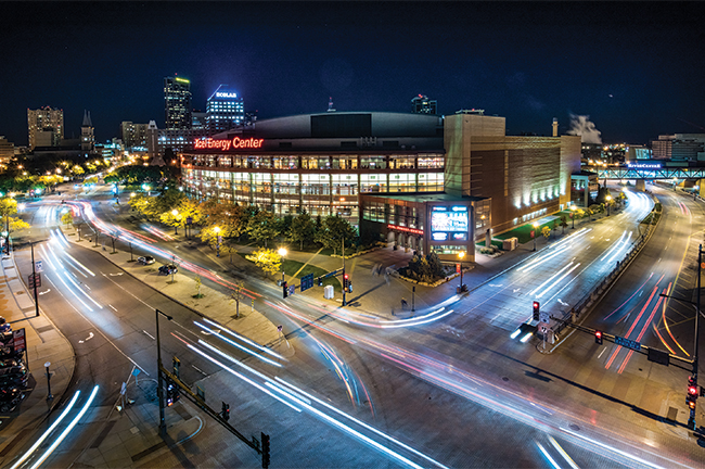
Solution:
{"label": "dark blue night sky above the city skyline", "polygon": [[509,135],[589,115],[604,142],[705,132],[702,2],[0,2],[0,135],[27,144],[27,109],[164,127],[163,78],[219,84],[259,119],[337,111],[484,109]]}

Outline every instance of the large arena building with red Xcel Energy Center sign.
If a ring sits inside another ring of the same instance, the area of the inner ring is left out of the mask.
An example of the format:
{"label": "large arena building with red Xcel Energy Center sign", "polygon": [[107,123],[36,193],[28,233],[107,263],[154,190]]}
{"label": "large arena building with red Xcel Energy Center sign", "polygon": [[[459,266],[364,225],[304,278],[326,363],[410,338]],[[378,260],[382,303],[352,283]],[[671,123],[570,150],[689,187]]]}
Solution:
{"label": "large arena building with red Xcel Energy Center sign", "polygon": [[511,137],[504,118],[322,113],[258,121],[181,155],[187,192],[280,216],[339,215],[403,248],[460,251],[565,208],[580,138]]}

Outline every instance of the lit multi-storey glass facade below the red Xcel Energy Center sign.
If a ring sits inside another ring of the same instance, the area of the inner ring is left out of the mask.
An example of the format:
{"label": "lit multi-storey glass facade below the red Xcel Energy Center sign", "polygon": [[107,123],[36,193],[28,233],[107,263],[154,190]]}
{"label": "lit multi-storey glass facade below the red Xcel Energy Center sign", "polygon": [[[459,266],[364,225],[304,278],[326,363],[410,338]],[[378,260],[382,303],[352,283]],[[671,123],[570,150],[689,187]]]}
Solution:
{"label": "lit multi-storey glass facade below the red Xcel Energy Center sign", "polygon": [[[440,192],[444,154],[185,154],[185,191],[257,205],[283,216],[306,210],[312,216],[338,214],[358,224],[360,193]],[[412,172],[395,168],[415,168]],[[394,223],[420,227],[415,208],[381,213]],[[383,216],[375,215],[375,216]]]}

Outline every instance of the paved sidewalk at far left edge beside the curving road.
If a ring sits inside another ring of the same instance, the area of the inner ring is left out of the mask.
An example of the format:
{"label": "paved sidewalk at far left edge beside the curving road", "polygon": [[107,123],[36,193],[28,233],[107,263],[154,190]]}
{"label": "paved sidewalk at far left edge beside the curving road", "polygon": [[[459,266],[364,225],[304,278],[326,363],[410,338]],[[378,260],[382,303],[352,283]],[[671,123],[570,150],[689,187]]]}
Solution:
{"label": "paved sidewalk at far left edge beside the curving road", "polygon": [[[0,416],[0,465],[13,457],[15,448],[22,447],[53,406],[61,402],[74,375],[74,348],[61,331],[39,309],[25,288],[15,266],[14,257],[2,256],[0,279],[0,316],[12,325],[13,330],[25,329],[27,367],[31,372],[24,402],[9,414]],[[51,363],[51,393],[47,400],[46,363]]]}

